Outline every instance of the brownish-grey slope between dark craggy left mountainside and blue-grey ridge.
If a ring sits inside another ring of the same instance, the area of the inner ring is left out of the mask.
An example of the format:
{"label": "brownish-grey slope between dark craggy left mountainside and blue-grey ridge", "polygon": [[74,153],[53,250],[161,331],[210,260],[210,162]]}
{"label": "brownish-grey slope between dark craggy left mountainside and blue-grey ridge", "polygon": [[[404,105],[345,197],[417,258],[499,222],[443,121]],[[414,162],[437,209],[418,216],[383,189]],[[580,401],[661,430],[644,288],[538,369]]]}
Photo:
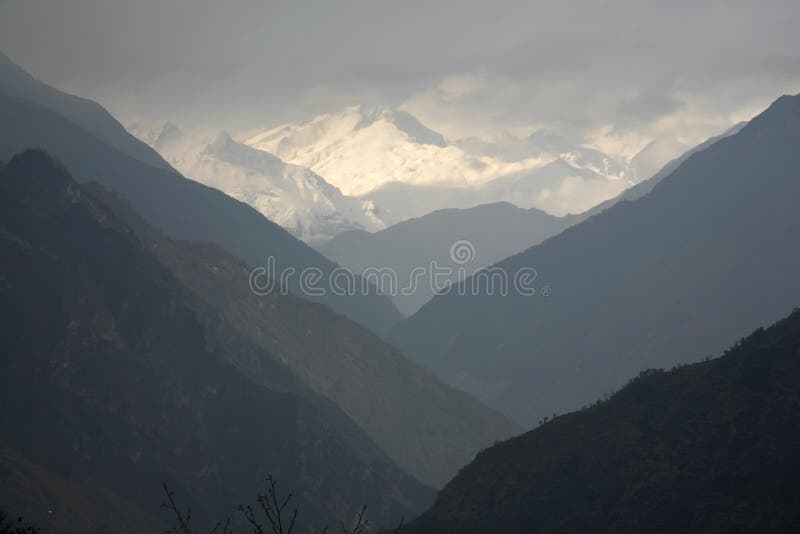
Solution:
{"label": "brownish-grey slope between dark craggy left mountainside and blue-grey ridge", "polygon": [[243,262],[213,245],[165,239],[124,203],[96,194],[193,295],[336,403],[397,465],[426,484],[441,487],[480,449],[517,431],[367,329],[292,295],[256,295]]}

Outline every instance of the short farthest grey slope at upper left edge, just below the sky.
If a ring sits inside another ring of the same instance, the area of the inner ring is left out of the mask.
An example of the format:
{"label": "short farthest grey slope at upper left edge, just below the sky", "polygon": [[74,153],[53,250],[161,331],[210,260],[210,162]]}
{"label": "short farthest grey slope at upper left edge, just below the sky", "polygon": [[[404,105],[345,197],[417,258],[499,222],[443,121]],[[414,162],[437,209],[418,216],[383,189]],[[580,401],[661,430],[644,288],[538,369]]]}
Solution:
{"label": "short farthest grey slope at upper left edge, just below the sky", "polygon": [[0,93],[25,98],[53,110],[123,154],[139,161],[169,169],[161,156],[138,142],[101,105],[85,98],[63,93],[25,72],[0,52]]}

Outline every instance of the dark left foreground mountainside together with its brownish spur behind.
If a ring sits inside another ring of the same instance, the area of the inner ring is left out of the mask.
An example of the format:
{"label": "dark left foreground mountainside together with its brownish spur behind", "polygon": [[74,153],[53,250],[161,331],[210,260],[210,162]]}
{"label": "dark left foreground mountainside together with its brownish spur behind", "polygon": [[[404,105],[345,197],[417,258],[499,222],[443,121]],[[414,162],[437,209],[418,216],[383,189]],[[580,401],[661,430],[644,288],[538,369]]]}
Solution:
{"label": "dark left foreground mountainside together with its brownish spur behind", "polygon": [[161,481],[219,519],[271,473],[303,489],[314,529],[361,503],[388,525],[426,504],[418,479],[441,485],[515,431],[325,306],[253,294],[241,260],[163,236],[44,153],[14,156],[0,187],[3,498],[40,524],[151,530]]}

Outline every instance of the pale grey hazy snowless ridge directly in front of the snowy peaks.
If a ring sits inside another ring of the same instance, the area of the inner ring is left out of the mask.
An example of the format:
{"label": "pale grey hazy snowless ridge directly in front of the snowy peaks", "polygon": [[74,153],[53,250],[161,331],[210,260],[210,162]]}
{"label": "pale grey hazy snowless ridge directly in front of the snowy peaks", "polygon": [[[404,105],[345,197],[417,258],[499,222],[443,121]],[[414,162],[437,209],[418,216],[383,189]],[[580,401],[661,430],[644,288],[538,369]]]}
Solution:
{"label": "pale grey hazy snowless ridge directly in front of the snowy peaks", "polygon": [[[318,245],[317,249],[339,265],[359,274],[363,274],[365,269],[389,267],[397,273],[398,281],[401,284],[404,283],[409,289],[413,270],[424,268],[427,274],[432,261],[435,261],[437,266],[451,269],[452,275],[446,279],[456,282],[459,276],[462,278],[470,276],[478,269],[487,268],[500,260],[522,252],[573,224],[605,211],[618,202],[643,197],[689,156],[724,137],[733,135],[745,124],[744,122],[737,124],[721,135],[706,140],[668,162],[650,178],[638,182],[616,197],[576,215],[555,217],[536,208],[518,208],[509,202],[480,204],[466,209],[436,210],[377,232],[361,230],[342,232],[333,239]],[[557,144],[567,146],[565,139],[552,132],[538,132],[537,135],[531,137],[532,142],[545,147],[553,147]],[[519,149],[519,147],[517,148]],[[591,151],[584,154],[585,157],[588,155],[591,155]],[[595,157],[594,164],[609,164],[601,153],[595,153]],[[581,161],[587,163],[586,160]],[[607,171],[622,172],[619,168],[607,169]],[[457,194],[455,196],[457,197]],[[451,247],[458,243],[464,243],[465,240],[466,245],[471,247],[471,255],[466,262],[456,263],[451,258]],[[413,315],[442,289],[434,291],[433,286],[429,277],[425,277],[422,282],[418,283],[415,291],[408,291],[408,294],[403,294],[401,291],[396,292],[397,294],[393,298],[394,303],[404,315]]]}

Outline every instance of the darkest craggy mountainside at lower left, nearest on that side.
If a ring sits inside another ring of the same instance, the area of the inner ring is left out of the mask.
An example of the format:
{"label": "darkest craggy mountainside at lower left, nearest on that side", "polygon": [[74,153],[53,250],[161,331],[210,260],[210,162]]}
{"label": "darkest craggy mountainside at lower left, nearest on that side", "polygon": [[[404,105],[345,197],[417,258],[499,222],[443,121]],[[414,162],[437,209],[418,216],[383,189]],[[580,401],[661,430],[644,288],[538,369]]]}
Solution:
{"label": "darkest craggy mountainside at lower left, nearest on that side", "polygon": [[[13,158],[0,191],[4,504],[53,532],[155,532],[162,481],[202,526],[267,473],[295,492],[305,532],[362,502],[386,525],[426,502],[350,418],[165,268],[166,240],[40,152]],[[208,267],[192,255],[203,245],[175,246]]]}

